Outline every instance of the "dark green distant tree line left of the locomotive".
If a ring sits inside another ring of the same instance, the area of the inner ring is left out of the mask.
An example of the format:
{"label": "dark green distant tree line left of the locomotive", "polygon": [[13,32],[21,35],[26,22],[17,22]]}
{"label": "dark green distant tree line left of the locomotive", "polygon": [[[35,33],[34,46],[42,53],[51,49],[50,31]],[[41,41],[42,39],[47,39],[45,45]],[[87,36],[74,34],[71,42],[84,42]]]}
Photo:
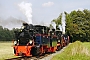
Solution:
{"label": "dark green distant tree line left of the locomotive", "polygon": [[13,40],[15,30],[16,30],[15,28],[13,30],[9,30],[7,28],[3,28],[2,26],[0,26],[0,41]]}

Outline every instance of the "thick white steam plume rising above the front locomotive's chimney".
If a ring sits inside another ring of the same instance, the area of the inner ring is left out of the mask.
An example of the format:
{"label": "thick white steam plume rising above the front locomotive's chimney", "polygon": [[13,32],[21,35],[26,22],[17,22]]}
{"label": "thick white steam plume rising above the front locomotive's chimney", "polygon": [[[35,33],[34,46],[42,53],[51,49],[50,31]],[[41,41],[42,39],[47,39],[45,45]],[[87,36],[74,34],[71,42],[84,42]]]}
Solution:
{"label": "thick white steam plume rising above the front locomotive's chimney", "polygon": [[20,7],[20,10],[25,14],[25,16],[28,19],[29,24],[32,24],[32,4],[31,3],[25,3],[24,1],[18,4]]}

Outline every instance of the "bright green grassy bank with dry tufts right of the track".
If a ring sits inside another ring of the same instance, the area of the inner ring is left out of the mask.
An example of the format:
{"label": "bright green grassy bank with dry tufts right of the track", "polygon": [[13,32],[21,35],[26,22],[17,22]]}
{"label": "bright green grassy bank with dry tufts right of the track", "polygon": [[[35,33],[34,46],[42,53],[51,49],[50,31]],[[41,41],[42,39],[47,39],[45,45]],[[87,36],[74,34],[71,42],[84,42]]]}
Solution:
{"label": "bright green grassy bank with dry tufts right of the track", "polygon": [[68,45],[64,51],[51,60],[90,60],[90,42],[76,41]]}

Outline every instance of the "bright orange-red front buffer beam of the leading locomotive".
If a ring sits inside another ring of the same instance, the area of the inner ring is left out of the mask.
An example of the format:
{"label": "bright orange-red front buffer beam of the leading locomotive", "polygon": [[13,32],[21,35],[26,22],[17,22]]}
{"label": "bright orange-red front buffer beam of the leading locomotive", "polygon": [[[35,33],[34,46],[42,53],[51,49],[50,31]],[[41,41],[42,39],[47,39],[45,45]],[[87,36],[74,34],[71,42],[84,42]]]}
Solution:
{"label": "bright orange-red front buffer beam of the leading locomotive", "polygon": [[14,46],[15,56],[32,56],[31,54],[32,46]]}

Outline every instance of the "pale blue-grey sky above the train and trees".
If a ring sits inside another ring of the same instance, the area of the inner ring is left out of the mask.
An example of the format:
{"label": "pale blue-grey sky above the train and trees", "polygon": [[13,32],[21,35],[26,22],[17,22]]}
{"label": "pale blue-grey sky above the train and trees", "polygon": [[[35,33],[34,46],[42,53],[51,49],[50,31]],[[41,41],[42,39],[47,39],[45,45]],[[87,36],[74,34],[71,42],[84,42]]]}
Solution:
{"label": "pale blue-grey sky above the train and trees", "polygon": [[[18,6],[22,2],[32,5],[31,19],[33,24],[49,25],[64,11],[70,13],[73,10],[90,9],[90,0],[0,0],[0,20],[8,21],[8,18],[14,17],[27,21],[27,17]],[[16,27],[14,25],[9,23],[5,27]]]}

